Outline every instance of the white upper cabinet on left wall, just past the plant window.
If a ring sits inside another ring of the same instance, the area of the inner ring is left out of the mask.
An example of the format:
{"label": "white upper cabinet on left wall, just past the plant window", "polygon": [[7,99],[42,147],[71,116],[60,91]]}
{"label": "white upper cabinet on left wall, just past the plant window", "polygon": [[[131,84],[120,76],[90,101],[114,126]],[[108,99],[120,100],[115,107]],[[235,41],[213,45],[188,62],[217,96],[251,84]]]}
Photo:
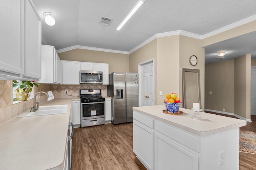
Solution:
{"label": "white upper cabinet on left wall, just past the plant window", "polygon": [[40,83],[60,84],[60,57],[54,46],[42,45],[42,78]]}

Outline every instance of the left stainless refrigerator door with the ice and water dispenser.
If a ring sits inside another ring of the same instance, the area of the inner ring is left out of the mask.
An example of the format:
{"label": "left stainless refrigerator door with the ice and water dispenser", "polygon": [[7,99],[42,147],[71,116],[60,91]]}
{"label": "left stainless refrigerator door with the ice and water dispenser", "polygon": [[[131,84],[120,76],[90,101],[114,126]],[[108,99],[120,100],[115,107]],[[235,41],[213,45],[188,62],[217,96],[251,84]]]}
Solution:
{"label": "left stainless refrigerator door with the ice and water dispenser", "polygon": [[114,99],[112,110],[112,123],[120,124],[126,122],[126,92],[125,92],[125,73],[113,73]]}

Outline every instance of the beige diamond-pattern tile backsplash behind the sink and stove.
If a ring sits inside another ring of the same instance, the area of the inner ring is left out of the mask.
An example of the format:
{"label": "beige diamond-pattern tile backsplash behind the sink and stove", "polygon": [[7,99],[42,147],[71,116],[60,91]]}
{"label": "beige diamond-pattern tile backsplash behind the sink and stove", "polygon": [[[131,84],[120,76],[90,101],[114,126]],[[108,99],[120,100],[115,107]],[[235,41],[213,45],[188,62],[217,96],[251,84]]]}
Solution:
{"label": "beige diamond-pattern tile backsplash behind the sink and stove", "polygon": [[[102,84],[58,85],[41,83],[38,87],[34,86],[34,94],[51,90],[54,98],[76,98],[79,97],[80,89],[101,89],[102,96],[107,96],[107,85]],[[68,90],[68,95],[65,90]],[[12,104],[12,93],[12,80],[0,80],[0,124],[33,106],[33,99]],[[40,100],[41,103],[45,102],[47,96],[39,94],[36,100]]]}

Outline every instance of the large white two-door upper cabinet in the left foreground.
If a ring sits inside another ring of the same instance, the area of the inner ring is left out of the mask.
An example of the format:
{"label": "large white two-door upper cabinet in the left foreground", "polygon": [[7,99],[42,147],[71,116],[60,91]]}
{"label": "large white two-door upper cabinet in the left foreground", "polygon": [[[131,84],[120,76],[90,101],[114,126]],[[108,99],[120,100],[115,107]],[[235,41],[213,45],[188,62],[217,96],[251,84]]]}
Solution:
{"label": "large white two-door upper cabinet in the left foreground", "polygon": [[41,78],[41,20],[31,0],[0,0],[0,78]]}

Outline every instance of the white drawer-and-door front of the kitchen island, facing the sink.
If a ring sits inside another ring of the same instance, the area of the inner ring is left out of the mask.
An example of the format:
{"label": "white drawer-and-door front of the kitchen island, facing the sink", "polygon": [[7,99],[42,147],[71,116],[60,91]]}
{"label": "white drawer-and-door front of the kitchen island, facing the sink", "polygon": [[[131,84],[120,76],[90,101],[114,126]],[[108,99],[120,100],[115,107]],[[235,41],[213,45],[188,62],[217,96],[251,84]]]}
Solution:
{"label": "white drawer-and-door front of the kitchen island, facing the sink", "polygon": [[133,151],[148,170],[198,170],[198,137],[133,112]]}

